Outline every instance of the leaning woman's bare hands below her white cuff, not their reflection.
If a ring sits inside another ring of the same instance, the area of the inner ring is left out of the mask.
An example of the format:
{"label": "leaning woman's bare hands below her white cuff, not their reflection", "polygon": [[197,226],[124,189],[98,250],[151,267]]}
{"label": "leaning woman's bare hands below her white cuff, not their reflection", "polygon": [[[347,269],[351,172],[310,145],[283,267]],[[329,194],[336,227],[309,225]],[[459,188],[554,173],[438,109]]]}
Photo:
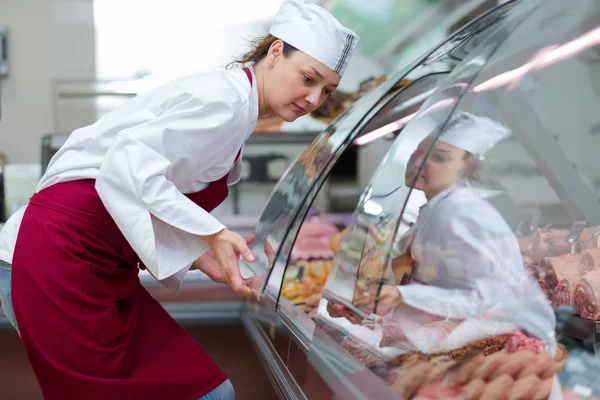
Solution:
{"label": "leaning woman's bare hands below her white cuff, not their reflection", "polygon": [[243,238],[235,232],[223,229],[213,235],[200,236],[200,238],[208,244],[210,252],[194,263],[197,264],[197,268],[211,279],[226,283],[237,294],[252,295],[252,289],[240,274],[239,259],[241,256],[247,262],[254,262],[254,254],[248,248],[248,244],[254,240],[254,235]]}

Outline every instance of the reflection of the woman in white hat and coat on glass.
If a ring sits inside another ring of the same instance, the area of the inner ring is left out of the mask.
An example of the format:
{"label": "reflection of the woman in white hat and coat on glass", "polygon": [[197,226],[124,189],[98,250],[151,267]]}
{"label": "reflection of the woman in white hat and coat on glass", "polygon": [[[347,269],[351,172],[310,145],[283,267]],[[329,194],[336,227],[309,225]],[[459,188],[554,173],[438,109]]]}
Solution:
{"label": "reflection of the woman in white hat and coat on glass", "polygon": [[553,330],[554,314],[539,287],[527,278],[514,234],[471,186],[480,158],[507,135],[496,122],[459,113],[433,147],[432,137],[418,146],[406,182],[423,191],[428,202],[399,244],[414,260],[411,283],[383,286],[377,314],[395,309],[401,318],[425,312],[465,320],[500,311],[538,337],[546,338]]}

